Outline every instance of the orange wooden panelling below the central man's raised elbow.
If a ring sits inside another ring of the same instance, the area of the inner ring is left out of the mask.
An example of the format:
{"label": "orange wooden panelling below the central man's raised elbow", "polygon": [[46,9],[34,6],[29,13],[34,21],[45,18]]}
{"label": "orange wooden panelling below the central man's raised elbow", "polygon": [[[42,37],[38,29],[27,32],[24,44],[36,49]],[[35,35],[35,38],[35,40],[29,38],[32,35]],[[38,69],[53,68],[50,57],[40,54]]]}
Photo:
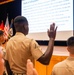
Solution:
{"label": "orange wooden panelling below the central man's raised elbow", "polygon": [[51,58],[50,64],[48,66],[42,65],[38,61],[35,61],[35,68],[36,68],[39,75],[51,75],[51,71],[52,71],[53,66],[56,63],[61,62],[66,58],[67,58],[67,56],[53,55]]}

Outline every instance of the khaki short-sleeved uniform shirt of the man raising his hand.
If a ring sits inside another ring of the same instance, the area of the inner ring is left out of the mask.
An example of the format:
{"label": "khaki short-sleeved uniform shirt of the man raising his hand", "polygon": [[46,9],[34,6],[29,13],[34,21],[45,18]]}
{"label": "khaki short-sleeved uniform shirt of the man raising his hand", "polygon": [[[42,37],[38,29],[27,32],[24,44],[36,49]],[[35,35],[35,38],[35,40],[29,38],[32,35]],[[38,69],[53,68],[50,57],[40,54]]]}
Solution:
{"label": "khaki short-sleeved uniform shirt of the man raising his hand", "polygon": [[11,70],[14,73],[26,73],[27,59],[38,59],[43,52],[37,42],[17,32],[6,44],[6,56]]}

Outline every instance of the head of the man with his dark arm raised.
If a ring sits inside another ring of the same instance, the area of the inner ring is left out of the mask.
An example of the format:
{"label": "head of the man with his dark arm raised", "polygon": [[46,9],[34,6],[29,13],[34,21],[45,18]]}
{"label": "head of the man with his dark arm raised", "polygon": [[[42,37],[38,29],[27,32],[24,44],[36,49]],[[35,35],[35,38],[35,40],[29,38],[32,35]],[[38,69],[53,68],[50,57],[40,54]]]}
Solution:
{"label": "head of the man with his dark arm raised", "polygon": [[[24,16],[17,16],[14,18],[14,27],[16,32],[28,32],[28,21]],[[26,29],[24,29],[24,27]]]}

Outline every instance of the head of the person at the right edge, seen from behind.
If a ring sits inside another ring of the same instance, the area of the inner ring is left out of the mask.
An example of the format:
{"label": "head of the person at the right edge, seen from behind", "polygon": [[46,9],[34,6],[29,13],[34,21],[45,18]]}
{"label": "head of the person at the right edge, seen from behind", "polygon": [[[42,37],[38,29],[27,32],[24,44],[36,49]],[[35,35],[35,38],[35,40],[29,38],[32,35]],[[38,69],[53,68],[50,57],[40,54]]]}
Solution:
{"label": "head of the person at the right edge, seen from behind", "polygon": [[74,36],[68,38],[67,40],[68,51],[74,54]]}

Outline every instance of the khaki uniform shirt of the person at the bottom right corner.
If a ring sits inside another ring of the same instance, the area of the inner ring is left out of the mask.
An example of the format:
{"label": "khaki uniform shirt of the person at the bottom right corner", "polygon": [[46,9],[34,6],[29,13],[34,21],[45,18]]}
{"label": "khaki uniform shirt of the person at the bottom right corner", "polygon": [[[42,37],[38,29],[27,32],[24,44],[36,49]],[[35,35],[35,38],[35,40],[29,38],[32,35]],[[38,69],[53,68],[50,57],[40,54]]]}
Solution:
{"label": "khaki uniform shirt of the person at the bottom right corner", "polygon": [[51,75],[74,75],[74,57],[68,57],[66,60],[56,64]]}

